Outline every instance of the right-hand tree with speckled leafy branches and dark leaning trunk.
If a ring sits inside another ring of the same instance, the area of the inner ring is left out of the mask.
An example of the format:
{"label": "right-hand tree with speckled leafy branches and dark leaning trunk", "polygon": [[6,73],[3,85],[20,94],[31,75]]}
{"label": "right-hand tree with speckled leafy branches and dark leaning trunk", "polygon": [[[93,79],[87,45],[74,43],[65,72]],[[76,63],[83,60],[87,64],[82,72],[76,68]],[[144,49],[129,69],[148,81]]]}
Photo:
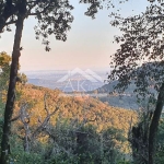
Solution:
{"label": "right-hand tree with speckled leafy branches and dark leaning trunk", "polygon": [[118,92],[134,83],[140,101],[155,103],[149,127],[149,164],[154,163],[155,137],[164,105],[163,19],[163,3],[159,1],[148,7],[144,13],[112,22],[119,26],[122,35],[115,37],[120,49],[114,55],[109,80],[119,81],[115,86]]}

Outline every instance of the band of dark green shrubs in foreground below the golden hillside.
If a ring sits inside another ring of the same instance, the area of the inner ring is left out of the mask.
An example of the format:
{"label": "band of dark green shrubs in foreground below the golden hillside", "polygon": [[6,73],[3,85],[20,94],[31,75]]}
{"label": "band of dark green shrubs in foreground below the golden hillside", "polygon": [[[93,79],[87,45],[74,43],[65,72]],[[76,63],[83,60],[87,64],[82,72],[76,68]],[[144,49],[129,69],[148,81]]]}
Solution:
{"label": "band of dark green shrubs in foreground below the golden hillside", "polygon": [[[125,138],[120,130],[109,128],[98,132],[92,125],[74,124],[72,119],[62,118],[47,130],[31,143],[28,153],[24,152],[17,134],[12,136],[11,161],[17,164],[116,164],[124,161],[120,148]],[[44,137],[46,141],[42,139]]]}

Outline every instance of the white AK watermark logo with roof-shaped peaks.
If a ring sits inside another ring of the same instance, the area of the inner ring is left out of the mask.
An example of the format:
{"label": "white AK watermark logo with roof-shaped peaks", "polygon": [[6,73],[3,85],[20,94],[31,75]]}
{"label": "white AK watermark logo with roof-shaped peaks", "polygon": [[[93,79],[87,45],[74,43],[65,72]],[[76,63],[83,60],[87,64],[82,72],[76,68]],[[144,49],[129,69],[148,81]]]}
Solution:
{"label": "white AK watermark logo with roof-shaped peaks", "polygon": [[86,92],[101,86],[104,83],[104,80],[90,69],[83,71],[80,68],[75,68],[68,71],[68,73],[57,82],[65,84],[63,92]]}

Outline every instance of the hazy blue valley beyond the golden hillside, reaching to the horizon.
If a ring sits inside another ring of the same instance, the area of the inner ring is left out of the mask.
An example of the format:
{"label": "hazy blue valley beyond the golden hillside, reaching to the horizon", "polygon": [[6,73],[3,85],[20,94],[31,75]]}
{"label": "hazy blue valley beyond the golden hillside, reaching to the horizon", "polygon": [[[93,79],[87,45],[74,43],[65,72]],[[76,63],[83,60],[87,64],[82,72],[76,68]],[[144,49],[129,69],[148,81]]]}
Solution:
{"label": "hazy blue valley beyond the golden hillside, reaching to the horizon", "polygon": [[[134,86],[130,85],[124,94],[109,94],[113,91],[115,83],[105,82],[107,74],[105,71],[97,71],[92,74],[84,74],[82,70],[70,77],[66,77],[68,71],[32,71],[25,72],[28,83],[44,86],[48,89],[58,89],[66,93],[67,96],[87,95],[98,98],[99,101],[109,104],[110,106],[121,107],[127,109],[138,109],[137,97],[133,94]],[[93,71],[92,71],[93,72]],[[65,79],[66,77],[66,79]],[[90,77],[90,78],[89,78]],[[98,78],[97,78],[98,77]]]}

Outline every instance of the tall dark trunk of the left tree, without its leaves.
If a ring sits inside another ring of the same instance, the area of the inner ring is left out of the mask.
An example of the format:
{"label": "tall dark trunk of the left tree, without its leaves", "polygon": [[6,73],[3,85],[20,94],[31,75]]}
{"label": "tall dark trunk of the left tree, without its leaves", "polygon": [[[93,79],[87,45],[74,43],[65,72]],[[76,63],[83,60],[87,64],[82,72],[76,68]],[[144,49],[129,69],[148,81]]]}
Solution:
{"label": "tall dark trunk of the left tree, without its leaves", "polygon": [[21,38],[22,38],[22,32],[23,32],[23,23],[25,19],[25,12],[26,8],[24,4],[26,3],[26,0],[20,1],[20,12],[17,15],[16,21],[16,30],[15,30],[15,38],[14,38],[14,45],[13,45],[13,52],[12,52],[12,63],[10,69],[10,82],[9,82],[9,89],[8,89],[8,96],[7,96],[7,104],[5,104],[5,110],[4,110],[4,124],[3,124],[3,134],[2,134],[2,141],[1,141],[1,164],[8,163],[8,157],[10,153],[10,144],[9,144],[9,137],[10,137],[10,130],[11,130],[11,118],[13,114],[13,106],[14,106],[14,99],[15,99],[15,84],[16,84],[16,77],[17,77],[17,70],[19,70],[19,58],[21,56],[20,52],[20,46],[21,46]]}

